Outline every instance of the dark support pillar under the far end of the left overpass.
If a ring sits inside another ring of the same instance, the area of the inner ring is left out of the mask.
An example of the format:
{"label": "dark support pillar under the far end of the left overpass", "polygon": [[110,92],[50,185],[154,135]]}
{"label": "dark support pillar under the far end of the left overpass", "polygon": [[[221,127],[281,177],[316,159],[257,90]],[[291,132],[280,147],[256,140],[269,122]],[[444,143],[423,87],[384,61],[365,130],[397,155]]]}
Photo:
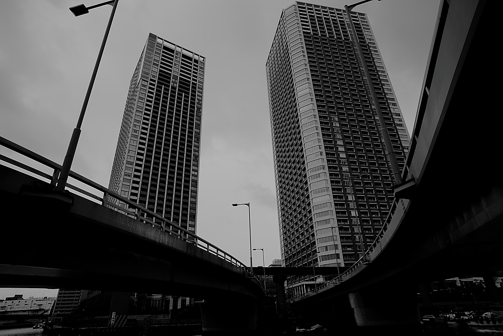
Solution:
{"label": "dark support pillar under the far end of the left overpass", "polygon": [[232,297],[213,298],[201,304],[203,331],[218,334],[243,332],[257,329],[257,300]]}

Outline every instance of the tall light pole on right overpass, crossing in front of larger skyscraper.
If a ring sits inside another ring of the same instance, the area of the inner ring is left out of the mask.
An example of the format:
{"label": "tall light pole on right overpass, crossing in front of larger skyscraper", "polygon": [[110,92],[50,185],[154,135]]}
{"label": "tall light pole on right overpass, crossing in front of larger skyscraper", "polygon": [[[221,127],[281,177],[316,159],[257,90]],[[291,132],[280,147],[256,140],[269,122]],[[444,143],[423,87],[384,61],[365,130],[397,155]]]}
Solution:
{"label": "tall light pole on right overpass, crossing in front of larger skyscraper", "polygon": [[[353,32],[353,40],[355,41],[356,48],[358,49],[358,54],[360,56],[360,61],[362,63],[363,72],[365,73],[365,78],[367,79],[367,83],[369,85],[369,91],[372,96],[372,101],[374,103],[377,117],[379,118],[379,123],[381,124],[381,133],[382,138],[384,140],[384,146],[386,148],[386,154],[389,158],[389,163],[391,164],[391,171],[393,172],[393,176],[395,178],[395,184],[402,183],[402,176],[400,173],[400,168],[398,167],[398,162],[396,161],[395,152],[393,151],[393,145],[391,144],[391,139],[389,138],[388,128],[384,123],[384,118],[381,113],[381,108],[379,106],[379,101],[377,100],[376,92],[374,90],[374,85],[372,84],[372,79],[370,78],[369,69],[367,68],[367,63],[365,62],[365,57],[363,56],[362,46],[360,45],[360,41],[358,40],[358,35],[356,34],[355,24],[353,23],[353,19],[351,18],[351,10],[358,5],[368,3],[372,0],[364,0],[359,3],[353,4],[351,6],[344,6],[346,9],[346,14],[348,15],[348,20],[351,26],[351,31]],[[379,0],[381,1],[381,0]]]}

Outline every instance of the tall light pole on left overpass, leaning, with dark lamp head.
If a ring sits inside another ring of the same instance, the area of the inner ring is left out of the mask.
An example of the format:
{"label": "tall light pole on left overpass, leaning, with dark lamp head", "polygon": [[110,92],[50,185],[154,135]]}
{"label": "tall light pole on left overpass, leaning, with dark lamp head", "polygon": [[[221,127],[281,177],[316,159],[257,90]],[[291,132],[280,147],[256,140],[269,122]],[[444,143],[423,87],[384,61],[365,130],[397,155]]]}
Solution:
{"label": "tall light pole on left overpass, leaning, with dark lamp head", "polygon": [[91,96],[91,91],[93,90],[96,74],[98,73],[101,57],[103,56],[103,50],[105,50],[105,44],[107,43],[108,33],[110,32],[110,27],[112,26],[112,20],[114,19],[118,2],[119,0],[112,0],[90,7],[86,7],[83,4],[70,7],[70,11],[73,13],[73,15],[80,16],[89,13],[90,9],[113,4],[112,13],[110,13],[110,18],[108,19],[107,29],[105,30],[105,36],[103,36],[103,41],[101,42],[101,47],[100,51],[98,52],[98,58],[96,59],[93,75],[91,75],[91,81],[89,82],[88,91],[86,92],[86,97],[84,98],[82,108],[80,109],[77,125],[73,129],[73,133],[71,133],[70,144],[68,145],[68,149],[66,150],[66,156],[64,157],[63,166],[61,167],[61,172],[59,173],[58,182],[56,185],[56,190],[58,191],[64,190],[66,181],[68,180],[68,175],[70,174],[71,164],[73,162],[73,157],[75,156],[75,151],[77,149],[78,138],[80,137],[80,127],[82,126],[82,120],[84,119],[84,114],[86,113],[86,109],[88,107],[89,97]]}

